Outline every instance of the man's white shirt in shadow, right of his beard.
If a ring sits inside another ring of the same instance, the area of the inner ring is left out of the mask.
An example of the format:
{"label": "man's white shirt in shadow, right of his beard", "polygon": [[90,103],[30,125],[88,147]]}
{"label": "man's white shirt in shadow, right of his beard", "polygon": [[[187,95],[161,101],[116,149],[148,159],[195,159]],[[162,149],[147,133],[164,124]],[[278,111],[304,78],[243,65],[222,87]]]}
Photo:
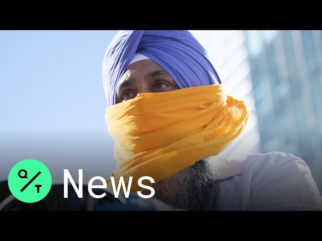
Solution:
{"label": "man's white shirt in shadow, right of his beard", "polygon": [[311,171],[292,154],[219,159],[218,210],[322,210]]}

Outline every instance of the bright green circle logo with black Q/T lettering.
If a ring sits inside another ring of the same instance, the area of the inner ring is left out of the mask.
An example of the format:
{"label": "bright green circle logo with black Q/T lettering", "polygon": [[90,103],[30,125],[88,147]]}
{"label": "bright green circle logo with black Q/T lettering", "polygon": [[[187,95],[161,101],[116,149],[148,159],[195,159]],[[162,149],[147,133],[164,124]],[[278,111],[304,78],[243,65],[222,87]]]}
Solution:
{"label": "bright green circle logo with black Q/T lettering", "polygon": [[40,161],[26,159],[18,162],[8,176],[9,189],[22,202],[38,202],[51,188],[51,174]]}

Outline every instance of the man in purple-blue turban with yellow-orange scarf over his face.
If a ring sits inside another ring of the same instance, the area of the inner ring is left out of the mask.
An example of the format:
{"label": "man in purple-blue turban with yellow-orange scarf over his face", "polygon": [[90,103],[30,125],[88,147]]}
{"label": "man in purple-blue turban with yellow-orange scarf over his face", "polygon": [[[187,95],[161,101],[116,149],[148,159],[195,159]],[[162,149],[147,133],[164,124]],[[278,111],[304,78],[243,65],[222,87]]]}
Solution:
{"label": "man in purple-blue turban with yellow-orange scarf over his face", "polygon": [[[116,183],[150,176],[154,198],[185,210],[318,210],[322,197],[292,154],[217,157],[245,128],[207,51],[188,31],[120,31],[103,62]],[[111,188],[111,179],[108,180]]]}

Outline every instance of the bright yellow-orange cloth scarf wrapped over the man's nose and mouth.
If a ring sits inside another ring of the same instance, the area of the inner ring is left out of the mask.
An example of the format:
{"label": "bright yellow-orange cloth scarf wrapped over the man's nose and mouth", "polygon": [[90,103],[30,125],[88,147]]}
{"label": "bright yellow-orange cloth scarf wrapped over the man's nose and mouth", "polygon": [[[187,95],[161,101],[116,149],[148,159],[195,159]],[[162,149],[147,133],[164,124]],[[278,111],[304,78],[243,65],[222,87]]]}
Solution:
{"label": "bright yellow-orange cloth scarf wrapped over the man's nose and mouth", "polygon": [[132,176],[131,192],[140,191],[140,177],[158,182],[218,155],[244,130],[248,116],[244,101],[226,95],[222,84],[142,93],[112,105],[105,119],[118,168],[111,176],[116,186],[120,177],[127,186]]}

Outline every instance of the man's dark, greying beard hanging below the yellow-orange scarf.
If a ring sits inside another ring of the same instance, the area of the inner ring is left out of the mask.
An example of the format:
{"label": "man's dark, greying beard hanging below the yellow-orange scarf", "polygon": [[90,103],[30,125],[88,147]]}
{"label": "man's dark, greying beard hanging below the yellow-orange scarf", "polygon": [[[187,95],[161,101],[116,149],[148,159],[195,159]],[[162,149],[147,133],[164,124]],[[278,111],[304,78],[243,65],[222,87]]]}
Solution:
{"label": "man's dark, greying beard hanging below the yellow-orange scarf", "polygon": [[218,165],[217,159],[202,159],[153,184],[153,197],[184,210],[215,210],[219,193]]}

